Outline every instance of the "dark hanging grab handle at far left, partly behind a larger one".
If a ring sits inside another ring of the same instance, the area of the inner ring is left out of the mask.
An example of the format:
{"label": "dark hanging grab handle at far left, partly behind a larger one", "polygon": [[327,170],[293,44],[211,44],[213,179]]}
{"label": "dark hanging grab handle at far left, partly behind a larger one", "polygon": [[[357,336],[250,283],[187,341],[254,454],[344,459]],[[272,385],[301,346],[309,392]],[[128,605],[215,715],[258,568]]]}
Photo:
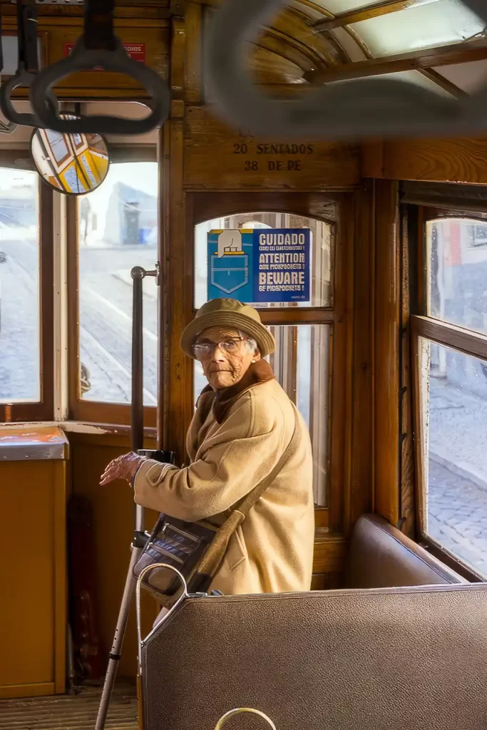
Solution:
{"label": "dark hanging grab handle at far left, partly behind a larger one", "polygon": [[[12,104],[12,93],[18,86],[30,87],[39,71],[37,56],[37,8],[36,0],[18,0],[17,2],[17,71],[8,81],[0,86],[0,109],[9,121],[9,133],[15,131],[18,124],[45,128],[36,114],[20,113]],[[3,67],[3,58],[2,58]],[[49,94],[45,104],[56,108],[56,100]],[[4,130],[1,130],[4,131]]]}

